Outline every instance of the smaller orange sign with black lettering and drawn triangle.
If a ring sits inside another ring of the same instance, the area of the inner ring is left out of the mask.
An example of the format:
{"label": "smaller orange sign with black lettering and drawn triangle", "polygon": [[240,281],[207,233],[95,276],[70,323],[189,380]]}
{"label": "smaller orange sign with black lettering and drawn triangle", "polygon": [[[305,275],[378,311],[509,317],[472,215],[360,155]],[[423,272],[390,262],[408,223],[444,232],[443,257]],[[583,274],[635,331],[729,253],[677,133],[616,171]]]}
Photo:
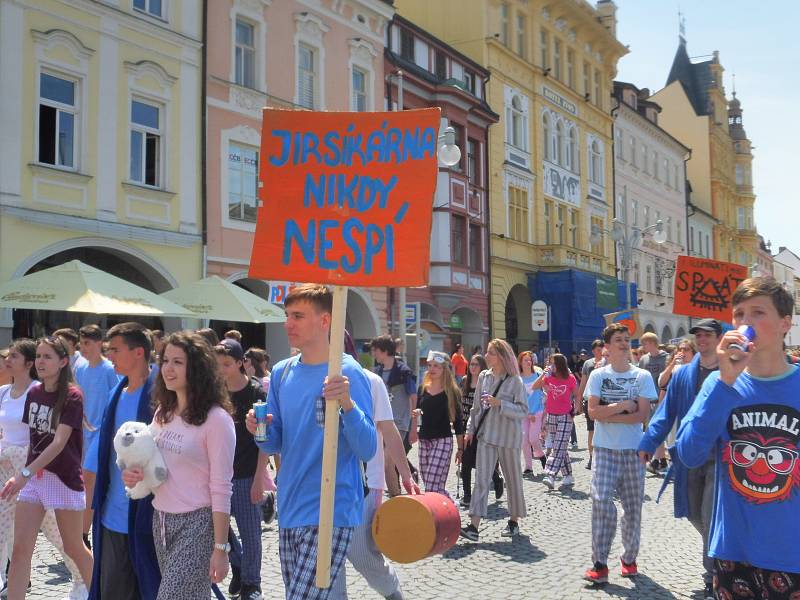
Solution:
{"label": "smaller orange sign with black lettering and drawn triangle", "polygon": [[731,320],[731,296],[747,279],[747,267],[734,263],[679,256],[675,269],[675,304],[678,315]]}

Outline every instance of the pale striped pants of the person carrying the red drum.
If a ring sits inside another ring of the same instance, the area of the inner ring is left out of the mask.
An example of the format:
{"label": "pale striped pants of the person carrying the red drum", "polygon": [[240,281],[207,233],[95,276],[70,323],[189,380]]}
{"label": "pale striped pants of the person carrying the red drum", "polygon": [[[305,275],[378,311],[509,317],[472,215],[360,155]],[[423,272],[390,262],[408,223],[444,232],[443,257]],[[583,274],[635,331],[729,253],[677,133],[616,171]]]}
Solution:
{"label": "pale striped pants of the person carrying the red drum", "polygon": [[[364,498],[364,512],[361,525],[353,530],[353,539],[347,550],[347,560],[356,571],[367,580],[369,586],[378,592],[382,598],[388,598],[400,591],[400,580],[394,567],[381,554],[372,537],[372,519],[375,511],[380,508],[383,501],[383,490],[370,489],[369,495]],[[347,573],[342,569],[341,575],[336,578],[336,588],[331,593],[331,600],[344,600],[347,598]]]}

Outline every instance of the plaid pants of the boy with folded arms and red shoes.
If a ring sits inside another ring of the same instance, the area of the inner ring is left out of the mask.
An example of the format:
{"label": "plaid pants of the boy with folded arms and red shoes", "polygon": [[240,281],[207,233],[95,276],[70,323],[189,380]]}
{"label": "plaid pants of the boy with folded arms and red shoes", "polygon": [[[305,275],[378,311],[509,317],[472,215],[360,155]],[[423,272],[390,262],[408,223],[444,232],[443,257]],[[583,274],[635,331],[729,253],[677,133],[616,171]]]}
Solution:
{"label": "plaid pants of the boy with folded arms and red shoes", "polygon": [[592,453],[592,561],[608,564],[608,553],[617,530],[614,491],[619,494],[623,515],[622,558],[630,564],[639,553],[644,499],[644,466],[636,450],[594,447]]}

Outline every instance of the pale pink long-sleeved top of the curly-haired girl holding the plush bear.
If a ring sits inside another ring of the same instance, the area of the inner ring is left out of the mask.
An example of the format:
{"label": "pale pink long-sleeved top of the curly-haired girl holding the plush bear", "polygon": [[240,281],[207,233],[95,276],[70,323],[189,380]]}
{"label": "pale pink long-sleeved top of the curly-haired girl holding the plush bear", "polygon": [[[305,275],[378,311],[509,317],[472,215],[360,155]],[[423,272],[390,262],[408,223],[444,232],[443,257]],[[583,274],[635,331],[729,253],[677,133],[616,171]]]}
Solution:
{"label": "pale pink long-sleeved top of the curly-haired girl holding the plush bear", "polygon": [[210,506],[213,512],[230,514],[236,448],[231,416],[215,406],[200,426],[173,417],[164,425],[153,419],[153,429],[167,463],[167,480],[153,492],[153,506],[167,513]]}

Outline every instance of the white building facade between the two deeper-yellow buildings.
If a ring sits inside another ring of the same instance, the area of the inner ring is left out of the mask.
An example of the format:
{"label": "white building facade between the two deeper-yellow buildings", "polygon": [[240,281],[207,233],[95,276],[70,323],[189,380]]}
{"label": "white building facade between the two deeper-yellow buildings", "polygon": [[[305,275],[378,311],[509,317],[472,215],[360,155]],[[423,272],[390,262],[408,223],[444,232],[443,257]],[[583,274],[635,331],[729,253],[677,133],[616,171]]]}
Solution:
{"label": "white building facade between the two deeper-yellow buildings", "polygon": [[[647,90],[615,82],[614,96],[615,215],[633,234],[627,266],[638,289],[642,327],[668,342],[689,331],[688,318],[672,312],[675,261],[687,254],[684,160],[689,149],[658,126],[661,109],[647,100]],[[652,235],[658,221],[666,234],[663,243]]]}

